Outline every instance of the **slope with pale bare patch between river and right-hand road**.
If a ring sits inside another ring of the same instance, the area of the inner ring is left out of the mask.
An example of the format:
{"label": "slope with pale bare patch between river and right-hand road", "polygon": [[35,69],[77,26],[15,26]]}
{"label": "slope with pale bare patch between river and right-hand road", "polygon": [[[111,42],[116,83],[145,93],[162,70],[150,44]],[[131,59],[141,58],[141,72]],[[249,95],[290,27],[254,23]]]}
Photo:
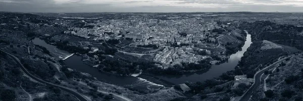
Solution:
{"label": "slope with pale bare patch between river and right-hand road", "polygon": [[235,69],[236,75],[247,74],[248,77],[253,77],[259,69],[275,62],[279,57],[301,52],[295,47],[276,44],[269,41],[255,41],[241,58],[238,68]]}

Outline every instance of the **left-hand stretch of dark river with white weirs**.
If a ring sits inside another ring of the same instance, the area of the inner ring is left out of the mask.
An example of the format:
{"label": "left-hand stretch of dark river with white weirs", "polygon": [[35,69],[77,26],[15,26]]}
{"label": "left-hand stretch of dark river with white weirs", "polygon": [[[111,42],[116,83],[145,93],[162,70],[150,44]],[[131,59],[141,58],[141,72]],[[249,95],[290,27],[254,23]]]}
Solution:
{"label": "left-hand stretch of dark river with white weirs", "polygon": [[36,45],[45,47],[54,58],[65,60],[66,65],[69,68],[76,71],[88,73],[91,76],[96,77],[100,81],[106,81],[111,84],[124,87],[131,87],[140,90],[158,90],[164,87],[163,85],[156,84],[157,82],[149,82],[148,80],[139,77],[122,77],[99,72],[98,69],[84,64],[81,56],[73,55],[66,51],[62,51],[54,45],[47,44],[44,40],[41,40],[40,38],[34,38],[32,42]]}

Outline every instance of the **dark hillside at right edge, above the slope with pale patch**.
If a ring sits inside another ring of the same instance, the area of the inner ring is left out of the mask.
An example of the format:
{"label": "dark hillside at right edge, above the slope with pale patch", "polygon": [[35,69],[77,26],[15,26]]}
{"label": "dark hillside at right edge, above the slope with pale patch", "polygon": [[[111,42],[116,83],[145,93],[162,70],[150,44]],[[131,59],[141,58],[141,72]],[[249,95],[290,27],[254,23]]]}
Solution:
{"label": "dark hillside at right edge, above the slope with pale patch", "polygon": [[243,23],[240,29],[247,29],[253,41],[268,40],[278,44],[303,49],[303,27],[275,24],[269,21]]}

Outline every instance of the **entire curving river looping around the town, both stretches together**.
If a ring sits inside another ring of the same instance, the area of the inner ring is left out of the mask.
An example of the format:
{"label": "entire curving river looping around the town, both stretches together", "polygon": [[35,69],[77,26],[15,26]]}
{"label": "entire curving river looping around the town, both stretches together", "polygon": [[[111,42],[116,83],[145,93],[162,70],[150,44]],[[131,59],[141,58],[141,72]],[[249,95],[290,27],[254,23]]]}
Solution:
{"label": "entire curving river looping around the town, both stretches together", "polygon": [[[246,41],[244,46],[242,47],[241,51],[238,51],[237,53],[230,56],[228,59],[228,62],[220,64],[220,65],[213,65],[212,68],[207,72],[195,72],[195,73],[189,73],[185,75],[162,75],[157,76],[158,78],[161,78],[162,80],[174,83],[174,84],[181,84],[185,81],[190,82],[197,82],[197,81],[205,81],[207,79],[212,79],[215,77],[219,77],[222,73],[225,73],[230,70],[234,70],[234,67],[238,64],[238,61],[240,61],[241,57],[243,57],[244,52],[246,52],[247,48],[250,46],[251,38],[250,34],[247,34]],[[62,51],[58,49],[56,46],[47,44],[44,40],[41,40],[39,38],[35,38],[32,40],[32,42],[36,45],[44,46],[53,57],[57,59],[63,59],[65,60],[67,66],[71,69],[88,73],[92,75],[93,77],[96,77],[100,81],[106,81],[111,84],[120,85],[124,87],[132,87],[136,89],[143,89],[143,90],[157,90],[160,88],[163,88],[163,85],[161,81],[153,80],[153,82],[148,81],[148,77],[145,77],[145,79],[142,79],[139,77],[121,77],[116,75],[111,75],[107,73],[98,72],[96,68],[90,67],[88,65],[85,65],[82,62],[81,56],[73,55],[71,53],[68,53],[66,51]],[[153,77],[151,77],[153,78]],[[146,80],[147,79],[147,80]],[[155,79],[155,78],[153,78]]]}

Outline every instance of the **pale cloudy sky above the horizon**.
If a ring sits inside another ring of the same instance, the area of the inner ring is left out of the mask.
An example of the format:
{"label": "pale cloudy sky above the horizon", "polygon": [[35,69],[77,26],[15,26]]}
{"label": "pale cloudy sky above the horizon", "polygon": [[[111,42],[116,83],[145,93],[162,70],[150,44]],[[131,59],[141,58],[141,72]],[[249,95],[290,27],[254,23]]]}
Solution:
{"label": "pale cloudy sky above the horizon", "polygon": [[10,12],[303,12],[303,0],[0,0]]}

